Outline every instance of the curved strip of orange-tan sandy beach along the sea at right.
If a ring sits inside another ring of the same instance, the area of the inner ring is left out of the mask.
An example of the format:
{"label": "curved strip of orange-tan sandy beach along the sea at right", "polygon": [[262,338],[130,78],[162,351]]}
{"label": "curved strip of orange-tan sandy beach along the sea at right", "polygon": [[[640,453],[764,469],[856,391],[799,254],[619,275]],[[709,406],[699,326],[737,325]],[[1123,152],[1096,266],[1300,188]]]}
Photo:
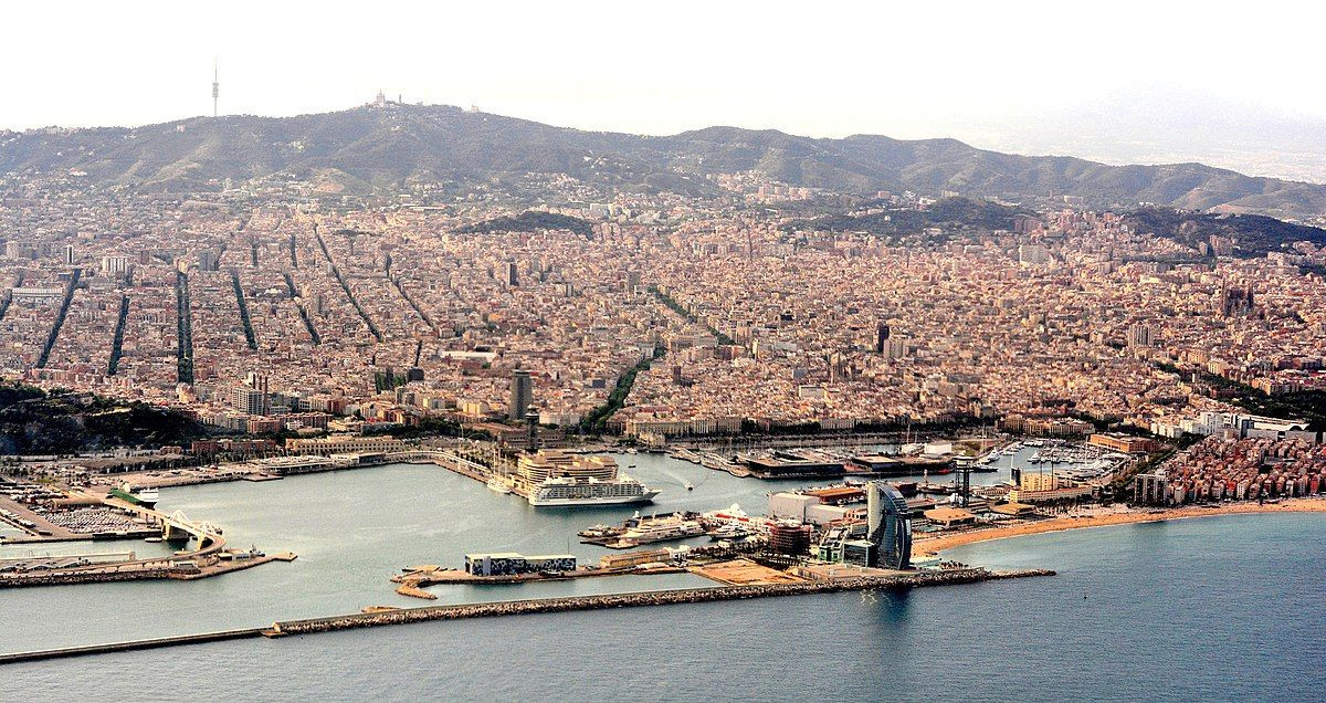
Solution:
{"label": "curved strip of orange-tan sandy beach along the sea at right", "polygon": [[1326,512],[1326,497],[1297,497],[1262,505],[1256,503],[1225,503],[1211,508],[1199,505],[1163,509],[1106,508],[1099,512],[1083,512],[1034,523],[1014,523],[1010,525],[996,525],[972,529],[968,532],[957,532],[944,535],[941,537],[923,537],[912,543],[912,552],[918,556],[935,554],[940,550],[964,544],[983,543],[987,540],[1004,540],[1008,537],[1022,537],[1025,535],[1040,535],[1042,532],[1062,532],[1065,529],[1130,525],[1136,523],[1159,523],[1162,520],[1183,520],[1188,517],[1215,517],[1221,515],[1264,512]]}

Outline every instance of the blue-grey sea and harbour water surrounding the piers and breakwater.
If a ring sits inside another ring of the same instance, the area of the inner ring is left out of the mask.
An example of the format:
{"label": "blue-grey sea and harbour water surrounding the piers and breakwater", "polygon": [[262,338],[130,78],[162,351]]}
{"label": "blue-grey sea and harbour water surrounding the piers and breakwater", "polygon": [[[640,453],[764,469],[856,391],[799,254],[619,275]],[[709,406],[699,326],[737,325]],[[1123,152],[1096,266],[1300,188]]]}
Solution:
{"label": "blue-grey sea and harbour water surrounding the piers and breakwater", "polygon": [[[740,480],[662,456],[619,460],[663,488],[648,508],[659,512],[740,503],[756,513],[768,491],[801,484]],[[686,480],[695,491],[682,488]],[[162,508],[223,525],[233,545],[300,558],[196,582],[0,592],[0,651],[423,605],[392,593],[387,578],[412,564],[459,566],[465,552],[479,550],[597,560],[605,550],[578,544],[575,531],[633,511],[536,512],[423,466],[172,488]],[[0,700],[1326,700],[1323,537],[1321,515],[1040,535],[948,554],[1053,568],[1057,577],[432,622],[15,665],[0,669]],[[444,604],[703,585],[678,574],[431,590]]]}

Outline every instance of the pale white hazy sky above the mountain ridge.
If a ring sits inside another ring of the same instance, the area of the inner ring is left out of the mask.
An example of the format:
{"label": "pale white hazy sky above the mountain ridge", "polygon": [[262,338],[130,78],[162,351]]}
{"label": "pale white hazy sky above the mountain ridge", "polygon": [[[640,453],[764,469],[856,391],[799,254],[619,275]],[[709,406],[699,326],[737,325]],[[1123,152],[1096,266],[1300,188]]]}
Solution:
{"label": "pale white hazy sky above the mountain ridge", "polygon": [[955,135],[1170,89],[1326,121],[1306,3],[15,3],[0,127],[350,107],[556,125]]}

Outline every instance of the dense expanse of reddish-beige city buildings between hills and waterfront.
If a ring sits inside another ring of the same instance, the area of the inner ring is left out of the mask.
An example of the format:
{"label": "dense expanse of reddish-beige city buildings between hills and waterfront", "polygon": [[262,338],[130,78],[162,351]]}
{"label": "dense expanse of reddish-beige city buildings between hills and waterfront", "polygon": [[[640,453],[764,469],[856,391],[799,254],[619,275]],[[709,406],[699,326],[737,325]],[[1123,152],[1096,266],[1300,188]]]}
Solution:
{"label": "dense expanse of reddish-beige city buildings between hills and waterfront", "polygon": [[[764,204],[833,194],[741,176],[717,199],[610,202],[542,179],[542,211],[568,224],[491,231],[475,225],[518,214],[500,194],[175,198],[9,176],[0,367],[248,434],[501,419],[516,369],[540,423],[574,427],[651,359],[613,431],[1078,418],[1177,436],[1237,410],[1192,371],[1272,395],[1326,378],[1326,283],[1299,268],[1326,261],[1319,245],[1236,259],[1220,236],[1184,247],[1071,208],[918,245],[817,231]],[[851,214],[934,204],[880,192]],[[268,395],[251,402],[255,378]]]}

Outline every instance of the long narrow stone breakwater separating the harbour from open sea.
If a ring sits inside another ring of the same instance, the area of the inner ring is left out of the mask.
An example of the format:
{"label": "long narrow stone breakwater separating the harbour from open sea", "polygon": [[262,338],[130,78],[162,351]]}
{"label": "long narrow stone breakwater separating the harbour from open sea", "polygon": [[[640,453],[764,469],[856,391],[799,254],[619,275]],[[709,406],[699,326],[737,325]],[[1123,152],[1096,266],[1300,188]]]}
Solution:
{"label": "long narrow stone breakwater separating the harbour from open sea", "polygon": [[808,596],[814,593],[838,593],[845,590],[892,590],[920,586],[944,586],[976,584],[1004,578],[1026,578],[1034,576],[1054,576],[1050,569],[1025,569],[992,572],[984,568],[952,569],[940,572],[916,572],[884,577],[859,577],[833,581],[806,581],[798,584],[768,584],[749,586],[716,586],[703,589],[651,590],[618,593],[609,596],[570,596],[561,598],[534,598],[525,601],[503,601],[468,605],[443,605],[423,607],[402,607],[383,611],[354,613],[329,618],[280,621],[271,627],[225,630],[194,635],[137,639],[107,645],[90,645],[16,654],[0,654],[0,665],[34,662],[66,657],[85,657],[113,651],[133,651],[158,647],[215,642],[219,639],[278,638],[285,635],[330,633],[358,627],[378,627],[385,625],[406,625],[436,619],[463,619],[497,615],[524,615],[536,613],[565,613],[572,610],[603,610],[610,607],[639,607],[654,605],[703,604],[748,598],[772,598],[781,596]]}

